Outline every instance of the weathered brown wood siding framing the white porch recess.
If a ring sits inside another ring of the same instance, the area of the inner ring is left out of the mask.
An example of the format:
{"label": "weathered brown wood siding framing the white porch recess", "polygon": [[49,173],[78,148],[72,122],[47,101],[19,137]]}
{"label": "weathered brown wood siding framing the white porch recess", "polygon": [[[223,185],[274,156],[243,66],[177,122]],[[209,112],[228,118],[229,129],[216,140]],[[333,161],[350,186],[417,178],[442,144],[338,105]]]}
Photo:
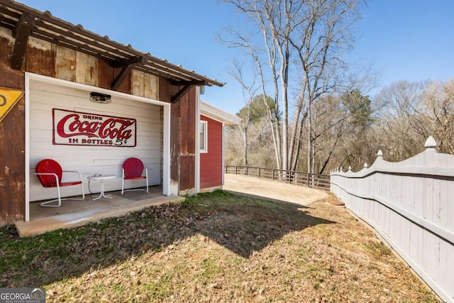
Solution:
{"label": "weathered brown wood siding framing the white porch recess", "polygon": [[[114,79],[121,72],[121,68],[111,67],[106,60],[33,37],[28,40],[23,70],[13,70],[11,69],[13,46],[14,38],[11,31],[0,28],[0,86],[2,87],[24,90],[25,72],[33,72],[38,75],[111,89]],[[178,89],[167,79],[144,75],[142,72],[133,70],[117,91],[170,102]],[[195,109],[195,96],[195,89],[192,89],[180,101],[172,104],[171,109],[170,179],[171,183],[178,187],[181,173],[184,178],[184,186],[180,186],[179,189],[183,191],[194,187],[194,150],[190,146],[194,143],[188,142],[180,145],[179,140],[183,136],[180,136],[179,131],[183,128],[189,131],[192,127],[190,123],[195,121],[195,111],[189,112]],[[128,100],[125,102],[128,104]],[[181,106],[189,107],[182,111]],[[128,106],[125,106],[118,116],[128,116],[125,113],[128,113],[129,109]],[[25,111],[28,109],[25,109],[25,98],[23,97],[0,123],[0,225],[23,220],[25,217]],[[189,114],[189,117],[183,119],[184,121],[181,119],[183,112]],[[156,117],[160,118],[160,116]],[[151,118],[154,119],[155,116]],[[195,125],[195,123],[193,124]],[[190,141],[194,135],[185,136],[185,138]],[[162,161],[162,157],[160,159]],[[181,167],[180,161],[184,161],[186,164]],[[180,172],[180,170],[187,171]],[[159,171],[159,167],[157,167],[157,171]]]}

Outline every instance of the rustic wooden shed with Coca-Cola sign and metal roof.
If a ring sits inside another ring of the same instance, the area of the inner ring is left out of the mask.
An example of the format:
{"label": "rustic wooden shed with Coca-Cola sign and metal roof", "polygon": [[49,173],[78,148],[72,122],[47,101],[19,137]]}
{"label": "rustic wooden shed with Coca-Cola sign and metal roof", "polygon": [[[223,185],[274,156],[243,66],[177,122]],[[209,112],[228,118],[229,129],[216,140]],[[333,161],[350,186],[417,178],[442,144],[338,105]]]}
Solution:
{"label": "rustic wooden shed with Coca-Cola sign and metal roof", "polygon": [[[33,175],[43,158],[87,176],[118,175],[135,156],[163,195],[204,187],[200,88],[223,83],[10,0],[0,0],[0,54],[0,225],[28,221],[31,202],[52,198]],[[59,131],[70,119],[77,137]],[[89,128],[107,120],[116,124],[103,136]]]}

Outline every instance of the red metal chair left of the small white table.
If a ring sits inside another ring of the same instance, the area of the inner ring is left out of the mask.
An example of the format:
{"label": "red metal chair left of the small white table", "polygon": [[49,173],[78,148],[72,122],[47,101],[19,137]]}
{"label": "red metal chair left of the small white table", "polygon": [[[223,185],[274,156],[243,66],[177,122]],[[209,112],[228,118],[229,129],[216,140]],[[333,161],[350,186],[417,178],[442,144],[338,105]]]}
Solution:
{"label": "red metal chair left of the small white table", "polygon": [[[58,164],[57,161],[52,160],[52,159],[44,159],[41,160],[38,165],[36,165],[35,169],[35,175],[38,177],[38,180],[40,180],[41,185],[43,187],[57,187],[57,197],[58,199],[53,199],[47,202],[43,202],[40,205],[41,206],[47,206],[47,207],[58,207],[62,205],[62,200],[79,200],[82,201],[85,199],[85,193],[84,193],[84,186],[82,184],[82,175],[80,172],[74,171],[74,170],[62,170],[62,167],[60,164]],[[62,182],[62,175],[63,172],[74,172],[79,175],[79,180],[78,181],[70,181],[70,182]],[[72,185],[80,185],[80,188],[82,189],[82,199],[76,199],[76,198],[61,198],[60,194],[60,187],[67,187],[67,186],[72,186]],[[50,204],[52,202],[58,201],[58,204]]]}

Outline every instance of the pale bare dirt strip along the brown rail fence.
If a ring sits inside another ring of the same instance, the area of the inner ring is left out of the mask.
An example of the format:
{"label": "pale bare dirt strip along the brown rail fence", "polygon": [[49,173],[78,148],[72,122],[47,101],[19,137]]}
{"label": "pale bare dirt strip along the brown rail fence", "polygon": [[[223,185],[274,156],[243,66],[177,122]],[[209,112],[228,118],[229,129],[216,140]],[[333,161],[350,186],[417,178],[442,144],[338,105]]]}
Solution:
{"label": "pale bare dirt strip along the brown rail fence", "polygon": [[224,175],[224,190],[250,194],[256,197],[275,199],[300,205],[307,205],[329,197],[321,189],[288,184],[285,182],[260,179],[244,175]]}

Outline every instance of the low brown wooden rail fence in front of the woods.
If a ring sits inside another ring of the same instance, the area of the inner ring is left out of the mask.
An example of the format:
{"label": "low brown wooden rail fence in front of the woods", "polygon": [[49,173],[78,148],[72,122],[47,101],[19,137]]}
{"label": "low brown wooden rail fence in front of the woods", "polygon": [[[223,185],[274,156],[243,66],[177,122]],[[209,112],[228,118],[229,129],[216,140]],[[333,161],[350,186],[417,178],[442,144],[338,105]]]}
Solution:
{"label": "low brown wooden rail fence in front of the woods", "polygon": [[287,182],[296,185],[305,185],[319,189],[330,187],[330,176],[312,174],[308,172],[298,172],[296,170],[276,170],[273,168],[253,167],[253,166],[231,166],[226,165],[226,174],[248,175],[269,180]]}

